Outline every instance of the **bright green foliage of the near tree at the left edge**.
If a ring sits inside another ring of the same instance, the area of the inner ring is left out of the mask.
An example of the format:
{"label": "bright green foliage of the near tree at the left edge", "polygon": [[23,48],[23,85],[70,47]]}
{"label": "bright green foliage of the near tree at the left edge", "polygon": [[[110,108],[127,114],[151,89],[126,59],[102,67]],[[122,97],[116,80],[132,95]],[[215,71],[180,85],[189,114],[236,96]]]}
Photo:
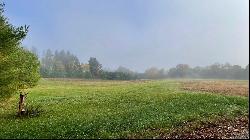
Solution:
{"label": "bright green foliage of the near tree at the left edge", "polygon": [[3,15],[0,4],[0,96],[33,87],[39,79],[38,58],[20,47],[28,26],[14,27]]}

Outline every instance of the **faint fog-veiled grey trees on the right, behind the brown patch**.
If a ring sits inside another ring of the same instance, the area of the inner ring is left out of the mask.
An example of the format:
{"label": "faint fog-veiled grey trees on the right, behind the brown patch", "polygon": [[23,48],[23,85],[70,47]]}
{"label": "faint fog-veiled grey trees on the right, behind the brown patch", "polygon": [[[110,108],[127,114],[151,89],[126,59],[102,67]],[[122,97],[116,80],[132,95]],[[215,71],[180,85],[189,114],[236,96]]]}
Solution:
{"label": "faint fog-veiled grey trees on the right, behind the brown patch", "polygon": [[145,77],[149,79],[159,78],[198,78],[198,79],[249,79],[249,65],[242,68],[239,65],[215,63],[206,67],[190,67],[187,64],[179,64],[167,71],[151,68],[145,71]]}

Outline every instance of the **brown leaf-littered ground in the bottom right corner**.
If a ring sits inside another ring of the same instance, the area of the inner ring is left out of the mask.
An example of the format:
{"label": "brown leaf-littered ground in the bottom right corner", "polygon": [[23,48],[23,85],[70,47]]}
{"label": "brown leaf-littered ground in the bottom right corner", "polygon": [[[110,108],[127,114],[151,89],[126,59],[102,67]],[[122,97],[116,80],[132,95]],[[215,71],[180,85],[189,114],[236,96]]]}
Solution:
{"label": "brown leaf-littered ground in the bottom right corner", "polygon": [[[192,123],[177,129],[164,139],[248,139],[249,118],[220,119],[202,126],[193,126]],[[186,127],[186,128],[185,128]],[[186,131],[183,131],[186,130]]]}

